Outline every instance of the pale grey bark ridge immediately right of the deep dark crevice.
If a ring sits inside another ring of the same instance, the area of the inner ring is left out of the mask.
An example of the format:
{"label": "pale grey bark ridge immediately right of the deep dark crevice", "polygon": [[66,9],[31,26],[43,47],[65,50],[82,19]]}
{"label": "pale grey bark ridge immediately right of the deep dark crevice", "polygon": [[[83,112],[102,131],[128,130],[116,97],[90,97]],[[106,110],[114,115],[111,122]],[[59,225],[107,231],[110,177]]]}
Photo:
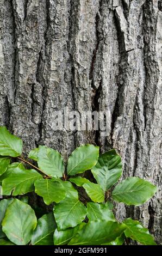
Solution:
{"label": "pale grey bark ridge immediately right of the deep dark crevice", "polygon": [[[98,111],[105,111],[108,119],[107,136],[102,136],[102,131],[97,132],[97,141],[102,150],[107,150],[111,147],[111,115],[113,114],[114,102],[117,97],[116,80],[119,72],[119,48],[114,11],[108,1],[101,1],[97,23],[99,44],[94,64],[93,87],[97,90],[102,88],[99,90]],[[111,44],[114,45],[113,48]]]}

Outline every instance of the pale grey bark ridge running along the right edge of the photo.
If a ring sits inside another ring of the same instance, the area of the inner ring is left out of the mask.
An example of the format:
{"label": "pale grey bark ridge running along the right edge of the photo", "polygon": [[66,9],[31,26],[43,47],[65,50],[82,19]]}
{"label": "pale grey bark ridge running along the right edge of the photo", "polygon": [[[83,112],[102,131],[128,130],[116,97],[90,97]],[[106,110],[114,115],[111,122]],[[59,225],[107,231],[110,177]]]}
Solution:
{"label": "pale grey bark ridge running along the right edge of the photo", "polygon": [[[146,1],[144,4],[144,56],[145,56],[145,136],[142,143],[145,150],[145,177],[158,186],[156,196],[148,204],[149,229],[156,233],[156,238],[161,242],[161,203],[158,200],[161,194],[161,25],[162,14],[159,2]],[[140,172],[140,170],[138,170]],[[156,231],[155,231],[156,230]]]}

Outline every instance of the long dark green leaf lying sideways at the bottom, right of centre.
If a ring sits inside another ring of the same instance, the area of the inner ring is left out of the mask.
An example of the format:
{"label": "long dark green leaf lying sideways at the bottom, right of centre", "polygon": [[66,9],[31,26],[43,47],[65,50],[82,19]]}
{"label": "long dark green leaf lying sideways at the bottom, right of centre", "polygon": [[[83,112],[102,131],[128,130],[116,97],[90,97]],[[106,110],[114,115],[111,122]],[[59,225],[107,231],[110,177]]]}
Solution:
{"label": "long dark green leaf lying sideways at the bottom, right of centre", "polygon": [[125,225],[114,221],[91,221],[78,231],[68,245],[102,245],[120,236]]}

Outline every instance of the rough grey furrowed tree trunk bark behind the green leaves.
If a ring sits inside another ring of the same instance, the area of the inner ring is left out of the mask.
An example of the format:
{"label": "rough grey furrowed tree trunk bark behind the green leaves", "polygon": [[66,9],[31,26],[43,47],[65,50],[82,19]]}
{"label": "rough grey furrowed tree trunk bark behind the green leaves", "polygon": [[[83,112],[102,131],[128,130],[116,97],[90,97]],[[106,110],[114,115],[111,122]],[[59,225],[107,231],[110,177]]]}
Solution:
{"label": "rough grey furrowed tree trunk bark behind the green leaves", "polygon": [[[0,125],[24,148],[65,157],[81,143],[119,150],[123,178],[159,187],[141,207],[117,208],[161,242],[161,40],[158,0],[0,0]],[[109,134],[54,131],[53,113],[106,110]]]}

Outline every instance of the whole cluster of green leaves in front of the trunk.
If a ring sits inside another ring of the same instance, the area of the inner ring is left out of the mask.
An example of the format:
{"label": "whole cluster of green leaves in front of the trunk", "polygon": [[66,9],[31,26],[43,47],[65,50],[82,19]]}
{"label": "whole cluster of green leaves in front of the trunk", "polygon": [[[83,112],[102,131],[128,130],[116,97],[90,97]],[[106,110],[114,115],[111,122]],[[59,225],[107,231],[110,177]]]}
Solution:
{"label": "whole cluster of green leaves in front of the trunk", "polygon": [[[122,174],[115,149],[99,156],[99,147],[80,145],[65,166],[60,153],[46,146],[31,150],[24,159],[21,139],[0,127],[0,182],[2,194],[11,197],[0,202],[0,245],[122,245],[130,239],[156,244],[139,221],[127,218],[119,223],[114,216],[113,200],[137,206],[157,191],[138,177],[114,188]],[[29,192],[42,197],[53,211],[34,211]]]}

